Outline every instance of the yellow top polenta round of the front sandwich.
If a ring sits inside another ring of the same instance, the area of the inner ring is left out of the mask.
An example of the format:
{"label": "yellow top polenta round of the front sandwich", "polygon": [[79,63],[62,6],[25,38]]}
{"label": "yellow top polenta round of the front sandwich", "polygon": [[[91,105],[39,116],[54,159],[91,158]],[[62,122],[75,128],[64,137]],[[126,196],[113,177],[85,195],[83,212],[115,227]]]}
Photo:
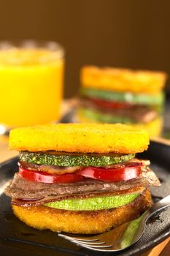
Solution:
{"label": "yellow top polenta round of the front sandwich", "polygon": [[9,148],[18,151],[135,154],[148,144],[147,131],[125,124],[51,124],[12,129],[9,135]]}

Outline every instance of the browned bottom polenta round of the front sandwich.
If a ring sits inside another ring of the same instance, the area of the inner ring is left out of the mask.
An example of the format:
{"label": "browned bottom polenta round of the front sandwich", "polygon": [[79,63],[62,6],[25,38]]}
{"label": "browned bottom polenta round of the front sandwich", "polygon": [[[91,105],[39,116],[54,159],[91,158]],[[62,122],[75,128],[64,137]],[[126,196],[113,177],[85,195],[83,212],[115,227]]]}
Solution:
{"label": "browned bottom polenta round of the front sandwich", "polygon": [[27,225],[39,230],[50,229],[54,232],[95,234],[103,233],[112,227],[139,217],[152,205],[150,189],[132,203],[110,210],[101,211],[64,211],[46,206],[22,207],[12,205],[14,214]]}

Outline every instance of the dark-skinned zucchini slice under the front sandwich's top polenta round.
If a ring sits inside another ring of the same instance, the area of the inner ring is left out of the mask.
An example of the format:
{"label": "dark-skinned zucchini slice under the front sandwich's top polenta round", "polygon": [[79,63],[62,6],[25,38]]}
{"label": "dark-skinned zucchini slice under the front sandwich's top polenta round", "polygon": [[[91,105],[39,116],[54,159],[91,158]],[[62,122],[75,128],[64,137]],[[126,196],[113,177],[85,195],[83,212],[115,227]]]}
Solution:
{"label": "dark-skinned zucchini slice under the front sandwich's top polenta round", "polygon": [[34,153],[21,151],[20,161],[28,162],[35,165],[57,165],[63,167],[73,166],[94,166],[100,167],[105,165],[115,165],[120,162],[127,162],[135,157],[134,154],[45,154],[45,153]]}

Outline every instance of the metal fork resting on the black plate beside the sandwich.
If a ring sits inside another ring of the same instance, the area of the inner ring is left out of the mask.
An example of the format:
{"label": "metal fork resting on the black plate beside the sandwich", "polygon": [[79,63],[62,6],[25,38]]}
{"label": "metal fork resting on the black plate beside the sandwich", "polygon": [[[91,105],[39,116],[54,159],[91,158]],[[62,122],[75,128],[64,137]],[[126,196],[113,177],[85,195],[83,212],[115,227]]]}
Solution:
{"label": "metal fork resting on the black plate beside the sandwich", "polygon": [[135,244],[142,237],[147,219],[157,211],[170,206],[170,195],[155,203],[138,219],[127,222],[119,227],[97,236],[67,236],[58,234],[74,244],[99,252],[120,252]]}

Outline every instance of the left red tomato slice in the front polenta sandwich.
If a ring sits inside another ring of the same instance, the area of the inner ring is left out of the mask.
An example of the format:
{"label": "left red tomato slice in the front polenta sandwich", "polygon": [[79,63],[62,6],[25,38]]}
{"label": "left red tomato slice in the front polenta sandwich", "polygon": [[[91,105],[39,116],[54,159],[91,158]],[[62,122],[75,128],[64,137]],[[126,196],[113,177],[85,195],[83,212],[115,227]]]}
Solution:
{"label": "left red tomato slice in the front polenta sandwich", "polygon": [[28,181],[43,182],[48,184],[72,183],[85,179],[83,176],[74,173],[55,175],[50,173],[44,173],[42,171],[26,170],[21,167],[19,167],[19,173],[21,177],[26,178]]}

